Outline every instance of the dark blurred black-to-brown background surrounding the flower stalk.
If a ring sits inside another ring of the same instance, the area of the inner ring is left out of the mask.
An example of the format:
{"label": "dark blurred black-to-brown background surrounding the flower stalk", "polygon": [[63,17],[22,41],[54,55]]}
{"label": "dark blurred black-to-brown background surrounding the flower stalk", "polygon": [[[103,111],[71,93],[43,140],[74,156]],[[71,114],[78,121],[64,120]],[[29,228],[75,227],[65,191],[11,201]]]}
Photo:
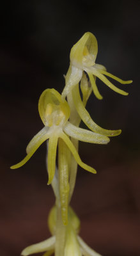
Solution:
{"label": "dark blurred black-to-brown background surrounding the flower stalk", "polygon": [[[92,94],[91,116],[122,134],[105,145],[80,143],[72,206],[81,218],[81,236],[104,256],[140,255],[139,170],[139,12],[140,1],[4,1],[1,6],[1,234],[0,254],[18,256],[29,244],[50,236],[54,204],[45,170],[45,143],[22,168],[10,170],[26,155],[27,143],[43,125],[38,99],[46,88],[62,92],[72,45],[86,32],[98,40],[97,63],[132,79],[119,88],[97,81],[102,101]],[[84,127],[84,125],[83,125]]]}

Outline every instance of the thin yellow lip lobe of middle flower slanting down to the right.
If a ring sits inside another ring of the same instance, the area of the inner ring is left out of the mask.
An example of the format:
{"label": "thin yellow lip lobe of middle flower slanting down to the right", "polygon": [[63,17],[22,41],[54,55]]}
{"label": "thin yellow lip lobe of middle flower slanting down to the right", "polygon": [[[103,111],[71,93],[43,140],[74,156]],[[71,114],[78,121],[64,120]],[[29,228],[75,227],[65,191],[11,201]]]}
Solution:
{"label": "thin yellow lip lobe of middle flower slanting down to the right", "polygon": [[88,166],[87,164],[84,164],[81,161],[81,158],[79,157],[79,154],[77,153],[77,150],[75,149],[74,145],[72,144],[72,141],[70,141],[70,139],[68,138],[68,136],[66,136],[66,134],[64,132],[62,132],[60,134],[60,138],[65,141],[66,145],[68,146],[68,148],[70,148],[70,151],[72,152],[75,160],[77,161],[77,163],[86,171],[91,172],[91,173],[97,173],[95,169],[93,169],[91,166]]}

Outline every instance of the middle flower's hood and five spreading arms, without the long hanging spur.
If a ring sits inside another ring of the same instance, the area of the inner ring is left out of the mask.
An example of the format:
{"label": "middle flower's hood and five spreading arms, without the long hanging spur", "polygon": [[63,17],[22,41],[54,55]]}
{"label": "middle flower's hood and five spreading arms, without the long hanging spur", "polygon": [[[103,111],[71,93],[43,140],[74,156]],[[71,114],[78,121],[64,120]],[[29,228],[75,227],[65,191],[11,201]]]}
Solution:
{"label": "middle flower's hood and five spreading arms, without the long hanging spur", "polygon": [[31,156],[33,156],[38,147],[40,147],[45,140],[49,139],[47,163],[49,180],[47,184],[51,184],[56,168],[56,149],[58,140],[61,138],[72,152],[75,161],[88,172],[96,173],[95,169],[81,161],[77,150],[68,136],[77,140],[97,144],[107,144],[109,138],[70,124],[70,122],[68,122],[70,116],[68,103],[66,100],[62,100],[61,95],[54,89],[47,89],[42,93],[38,102],[38,110],[45,127],[43,127],[27,145],[27,156],[20,161],[20,163],[11,166],[11,168],[15,169],[23,166]]}

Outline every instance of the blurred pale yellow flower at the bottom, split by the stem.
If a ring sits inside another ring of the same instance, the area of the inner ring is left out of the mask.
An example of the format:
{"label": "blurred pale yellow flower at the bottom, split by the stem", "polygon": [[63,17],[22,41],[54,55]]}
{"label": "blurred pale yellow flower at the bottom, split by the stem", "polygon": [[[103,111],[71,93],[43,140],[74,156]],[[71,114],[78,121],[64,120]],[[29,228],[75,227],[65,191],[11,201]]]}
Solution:
{"label": "blurred pale yellow flower at the bottom, split by the stem", "polygon": [[[34,253],[44,252],[43,256],[52,255],[56,252],[56,206],[52,207],[49,214],[49,229],[52,236],[40,243],[27,246],[21,253],[22,256],[28,256]],[[82,238],[78,235],[80,229],[80,221],[74,210],[68,207],[68,225],[65,234],[65,246],[62,255],[64,256],[102,256],[92,250]]]}

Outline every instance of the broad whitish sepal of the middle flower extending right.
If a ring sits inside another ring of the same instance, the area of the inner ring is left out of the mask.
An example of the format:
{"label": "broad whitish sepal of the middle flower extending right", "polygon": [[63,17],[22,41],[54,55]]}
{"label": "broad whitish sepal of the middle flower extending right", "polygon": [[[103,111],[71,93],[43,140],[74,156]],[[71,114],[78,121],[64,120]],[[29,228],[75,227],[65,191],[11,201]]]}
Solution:
{"label": "broad whitish sepal of the middle flower extending right", "polygon": [[63,131],[65,131],[68,136],[84,142],[107,144],[110,141],[109,138],[104,135],[76,127],[75,125],[70,124],[70,122],[66,123]]}

